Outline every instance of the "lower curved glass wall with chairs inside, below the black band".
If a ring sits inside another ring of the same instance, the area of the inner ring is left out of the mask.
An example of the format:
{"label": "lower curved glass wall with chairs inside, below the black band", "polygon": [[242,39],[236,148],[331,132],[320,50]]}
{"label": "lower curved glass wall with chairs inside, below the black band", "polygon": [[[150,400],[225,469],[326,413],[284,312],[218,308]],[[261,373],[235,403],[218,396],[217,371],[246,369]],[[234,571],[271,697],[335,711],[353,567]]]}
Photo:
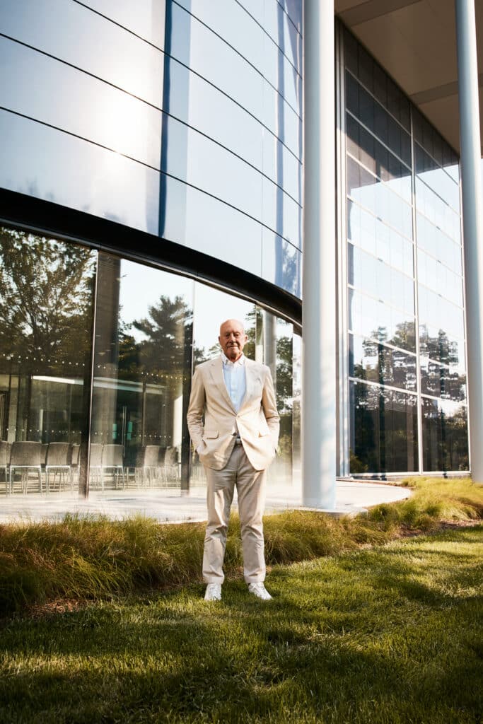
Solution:
{"label": "lower curved glass wall with chairs inside, below the black band", "polygon": [[219,355],[230,317],[245,323],[246,355],[272,370],[281,434],[270,484],[300,482],[291,324],[193,279],[7,227],[0,281],[0,494],[204,487],[190,383]]}

